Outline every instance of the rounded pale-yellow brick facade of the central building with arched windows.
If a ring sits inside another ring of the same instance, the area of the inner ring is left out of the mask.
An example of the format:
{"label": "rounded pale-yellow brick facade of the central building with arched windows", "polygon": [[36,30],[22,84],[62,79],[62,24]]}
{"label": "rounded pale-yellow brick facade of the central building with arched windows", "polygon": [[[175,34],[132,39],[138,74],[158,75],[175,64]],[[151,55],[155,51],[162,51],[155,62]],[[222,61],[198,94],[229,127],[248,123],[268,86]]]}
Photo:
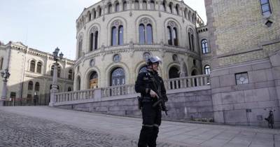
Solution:
{"label": "rounded pale-yellow brick facade of the central building with arched windows", "polygon": [[[102,9],[101,15],[99,8]],[[97,87],[113,85],[111,75],[117,68],[124,71],[125,82],[122,84],[134,84],[139,70],[146,64],[145,53],[162,58],[159,73],[163,79],[174,78],[174,74],[179,77],[202,73],[196,27],[202,26],[203,22],[183,1],[99,1],[85,8],[76,24],[77,74],[74,90],[89,89],[93,72],[97,73]],[[152,26],[151,43],[141,43],[141,24]],[[123,41],[112,45],[113,27],[119,28],[120,25],[123,26]],[[169,44],[168,27],[176,28],[178,45],[175,45],[175,41]],[[95,41],[91,34],[97,31]],[[193,34],[191,47],[189,33]],[[114,55],[120,56],[118,62],[113,61]],[[92,62],[94,64],[90,64]]]}

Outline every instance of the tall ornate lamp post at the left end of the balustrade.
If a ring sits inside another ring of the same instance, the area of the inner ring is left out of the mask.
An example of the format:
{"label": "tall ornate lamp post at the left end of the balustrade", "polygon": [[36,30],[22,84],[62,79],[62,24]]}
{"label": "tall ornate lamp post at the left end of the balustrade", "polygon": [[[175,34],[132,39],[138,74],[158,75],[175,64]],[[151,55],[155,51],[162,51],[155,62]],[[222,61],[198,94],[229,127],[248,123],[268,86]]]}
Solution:
{"label": "tall ornate lamp post at the left end of the balustrade", "polygon": [[55,104],[55,93],[57,93],[57,60],[63,59],[63,54],[60,52],[58,57],[59,48],[55,48],[55,51],[52,52],[53,59],[55,60],[55,66],[53,68],[53,76],[52,76],[52,89],[50,90],[50,103],[48,106],[53,106]]}

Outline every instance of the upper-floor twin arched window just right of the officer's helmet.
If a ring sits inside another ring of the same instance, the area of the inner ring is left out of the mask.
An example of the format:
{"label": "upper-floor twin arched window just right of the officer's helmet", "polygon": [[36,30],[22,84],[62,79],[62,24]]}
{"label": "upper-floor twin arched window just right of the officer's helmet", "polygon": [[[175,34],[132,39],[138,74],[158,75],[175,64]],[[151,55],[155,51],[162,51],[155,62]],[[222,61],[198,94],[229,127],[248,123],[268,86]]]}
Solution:
{"label": "upper-floor twin arched window just right of the officer's helmet", "polygon": [[178,30],[175,22],[167,24],[167,42],[169,45],[179,45]]}

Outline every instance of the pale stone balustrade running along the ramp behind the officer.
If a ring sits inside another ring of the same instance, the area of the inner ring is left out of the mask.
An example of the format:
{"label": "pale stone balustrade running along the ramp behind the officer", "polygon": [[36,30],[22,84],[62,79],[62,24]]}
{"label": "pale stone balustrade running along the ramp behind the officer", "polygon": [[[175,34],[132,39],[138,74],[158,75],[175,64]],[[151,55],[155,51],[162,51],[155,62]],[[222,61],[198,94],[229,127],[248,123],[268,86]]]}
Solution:
{"label": "pale stone balustrade running along the ramp behind the officer", "polygon": [[[169,90],[187,89],[189,87],[203,87],[210,85],[209,75],[188,76],[183,78],[172,78],[165,80],[165,88]],[[136,94],[134,85],[118,85],[111,87],[102,87],[94,90],[80,90],[75,92],[62,92],[55,94],[55,105],[100,102],[109,97],[118,97]]]}

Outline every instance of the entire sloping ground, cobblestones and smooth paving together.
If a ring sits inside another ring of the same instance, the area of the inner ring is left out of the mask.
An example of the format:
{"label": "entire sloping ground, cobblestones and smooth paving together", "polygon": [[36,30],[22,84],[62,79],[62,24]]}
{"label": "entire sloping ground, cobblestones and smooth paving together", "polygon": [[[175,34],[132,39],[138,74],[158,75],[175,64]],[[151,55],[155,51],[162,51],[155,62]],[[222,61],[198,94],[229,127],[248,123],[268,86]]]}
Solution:
{"label": "entire sloping ground, cobblestones and smooth paving together", "polygon": [[[141,119],[48,106],[0,107],[0,147],[137,146]],[[158,146],[256,146],[280,144],[279,129],[162,121]]]}

